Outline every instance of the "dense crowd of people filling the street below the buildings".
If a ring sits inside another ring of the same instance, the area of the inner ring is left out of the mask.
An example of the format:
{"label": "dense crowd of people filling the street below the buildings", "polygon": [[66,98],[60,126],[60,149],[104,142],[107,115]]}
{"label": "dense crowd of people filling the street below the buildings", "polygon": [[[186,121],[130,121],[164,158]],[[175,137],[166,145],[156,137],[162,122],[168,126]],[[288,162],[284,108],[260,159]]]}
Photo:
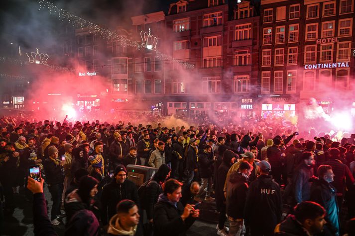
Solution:
{"label": "dense crowd of people filling the street below the buildings", "polygon": [[[355,134],[298,133],[270,119],[203,122],[2,117],[3,213],[13,214],[24,188],[35,235],[57,235],[65,224],[66,235],[180,236],[205,201],[216,203],[219,236],[355,234]],[[136,186],[128,165],[157,171]],[[32,166],[40,178],[30,177]]]}

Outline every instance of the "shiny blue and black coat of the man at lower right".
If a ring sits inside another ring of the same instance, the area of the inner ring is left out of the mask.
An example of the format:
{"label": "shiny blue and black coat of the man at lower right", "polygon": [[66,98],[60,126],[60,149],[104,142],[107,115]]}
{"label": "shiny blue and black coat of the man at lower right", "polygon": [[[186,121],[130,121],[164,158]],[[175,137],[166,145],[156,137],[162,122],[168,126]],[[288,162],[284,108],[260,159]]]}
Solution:
{"label": "shiny blue and black coat of the man at lower right", "polygon": [[311,178],[310,181],[312,182],[310,200],[324,207],[327,212],[325,220],[328,229],[336,230],[339,234],[339,208],[335,187],[324,179],[317,177]]}

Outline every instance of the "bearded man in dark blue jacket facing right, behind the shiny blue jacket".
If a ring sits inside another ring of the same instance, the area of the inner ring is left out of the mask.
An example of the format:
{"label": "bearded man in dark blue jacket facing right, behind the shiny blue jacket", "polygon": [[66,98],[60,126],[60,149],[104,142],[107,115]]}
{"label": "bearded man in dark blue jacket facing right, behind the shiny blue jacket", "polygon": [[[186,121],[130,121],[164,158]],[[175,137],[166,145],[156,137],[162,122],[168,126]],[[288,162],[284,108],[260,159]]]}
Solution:
{"label": "bearded man in dark blue jacket facing right, behind the shiny blue jacket", "polygon": [[297,203],[308,201],[310,198],[311,183],[309,179],[313,176],[313,166],[316,163],[314,154],[304,152],[301,156],[302,162],[297,167],[294,179],[294,193]]}

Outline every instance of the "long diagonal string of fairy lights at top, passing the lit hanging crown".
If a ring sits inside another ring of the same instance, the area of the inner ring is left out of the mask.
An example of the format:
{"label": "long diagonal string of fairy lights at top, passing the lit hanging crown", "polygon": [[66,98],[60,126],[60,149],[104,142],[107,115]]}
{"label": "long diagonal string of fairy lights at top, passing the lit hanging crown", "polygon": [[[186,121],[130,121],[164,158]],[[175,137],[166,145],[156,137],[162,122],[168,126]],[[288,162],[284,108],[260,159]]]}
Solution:
{"label": "long diagonal string of fairy lights at top, passing the lit hanging crown", "polygon": [[[142,45],[136,41],[129,40],[125,37],[122,37],[114,31],[110,31],[107,28],[104,28],[98,24],[85,20],[84,18],[70,13],[67,10],[57,7],[53,3],[46,0],[39,0],[39,9],[46,9],[50,14],[57,15],[62,21],[67,21],[73,27],[79,28],[89,28],[90,31],[93,31],[99,34],[102,38],[107,40],[119,40],[123,46],[135,47],[137,50],[142,48]],[[175,59],[172,56],[166,55],[158,50],[155,50],[155,56],[161,61],[173,61],[174,63],[180,63],[183,68],[192,69],[195,65],[188,62],[184,62],[179,59]]]}

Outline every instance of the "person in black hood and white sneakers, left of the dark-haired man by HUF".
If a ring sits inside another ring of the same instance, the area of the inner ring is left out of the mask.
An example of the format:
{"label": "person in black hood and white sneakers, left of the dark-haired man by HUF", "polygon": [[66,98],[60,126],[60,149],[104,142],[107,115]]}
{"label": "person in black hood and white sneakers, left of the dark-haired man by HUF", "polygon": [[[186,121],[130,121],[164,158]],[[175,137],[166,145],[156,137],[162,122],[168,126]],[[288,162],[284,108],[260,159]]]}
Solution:
{"label": "person in black hood and white sneakers, left of the dark-haired man by HUF", "polygon": [[218,167],[215,185],[216,208],[220,212],[217,225],[217,235],[226,236],[228,229],[225,227],[226,223],[226,197],[224,194],[224,185],[227,178],[228,170],[236,161],[237,154],[231,150],[226,150],[223,153],[222,164]]}

